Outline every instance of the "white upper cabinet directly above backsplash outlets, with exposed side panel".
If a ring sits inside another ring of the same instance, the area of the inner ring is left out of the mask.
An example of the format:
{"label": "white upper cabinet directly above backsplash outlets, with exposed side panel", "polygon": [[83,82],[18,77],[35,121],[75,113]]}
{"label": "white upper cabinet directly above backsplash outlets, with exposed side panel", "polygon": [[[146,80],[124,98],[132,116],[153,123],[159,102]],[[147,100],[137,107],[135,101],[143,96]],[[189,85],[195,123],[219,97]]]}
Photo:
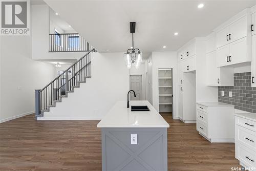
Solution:
{"label": "white upper cabinet directly above backsplash outlets, with exposed side panel", "polygon": [[231,67],[217,67],[216,51],[206,54],[207,86],[234,86]]}

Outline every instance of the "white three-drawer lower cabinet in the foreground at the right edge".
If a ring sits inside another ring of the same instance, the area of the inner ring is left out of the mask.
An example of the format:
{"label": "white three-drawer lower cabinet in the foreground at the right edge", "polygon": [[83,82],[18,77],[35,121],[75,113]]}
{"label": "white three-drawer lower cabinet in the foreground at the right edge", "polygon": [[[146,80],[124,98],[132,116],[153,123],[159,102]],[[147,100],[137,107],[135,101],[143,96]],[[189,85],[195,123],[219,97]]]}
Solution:
{"label": "white three-drawer lower cabinet in the foreground at the right edge", "polygon": [[234,118],[236,158],[242,166],[256,170],[256,115],[235,114]]}

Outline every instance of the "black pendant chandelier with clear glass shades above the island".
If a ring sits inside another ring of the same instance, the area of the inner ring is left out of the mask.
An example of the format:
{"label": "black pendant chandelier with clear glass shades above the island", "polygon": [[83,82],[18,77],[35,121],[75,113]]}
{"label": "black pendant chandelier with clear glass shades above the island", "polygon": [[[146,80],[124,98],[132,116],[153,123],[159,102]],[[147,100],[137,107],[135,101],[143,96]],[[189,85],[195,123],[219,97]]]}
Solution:
{"label": "black pendant chandelier with clear glass shades above the island", "polygon": [[[135,22],[130,22],[131,33],[135,33],[135,26],[136,26]],[[138,69],[141,61],[142,61],[142,52],[139,49],[134,48],[134,41],[133,41],[133,46],[130,49],[128,49],[127,52],[125,53],[126,66],[128,69],[130,69],[133,65],[136,67],[136,69]]]}

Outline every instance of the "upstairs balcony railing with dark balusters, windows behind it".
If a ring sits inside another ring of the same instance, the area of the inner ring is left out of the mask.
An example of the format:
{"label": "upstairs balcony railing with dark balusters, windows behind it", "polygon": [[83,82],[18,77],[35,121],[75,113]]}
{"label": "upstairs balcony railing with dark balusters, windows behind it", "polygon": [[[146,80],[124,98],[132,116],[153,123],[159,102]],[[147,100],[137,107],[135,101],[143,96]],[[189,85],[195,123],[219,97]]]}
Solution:
{"label": "upstairs balcony railing with dark balusters, windows behind it", "polygon": [[92,49],[78,33],[49,34],[49,52],[89,52]]}

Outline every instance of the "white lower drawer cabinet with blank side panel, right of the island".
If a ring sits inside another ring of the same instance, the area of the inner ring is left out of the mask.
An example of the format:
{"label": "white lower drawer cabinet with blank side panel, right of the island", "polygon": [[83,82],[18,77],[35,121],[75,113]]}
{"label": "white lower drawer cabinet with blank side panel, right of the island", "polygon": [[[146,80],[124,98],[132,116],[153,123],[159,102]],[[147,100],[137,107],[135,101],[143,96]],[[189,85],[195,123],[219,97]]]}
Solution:
{"label": "white lower drawer cabinet with blank side panel, right of the island", "polygon": [[197,131],[210,142],[234,142],[234,106],[220,102],[197,103]]}

